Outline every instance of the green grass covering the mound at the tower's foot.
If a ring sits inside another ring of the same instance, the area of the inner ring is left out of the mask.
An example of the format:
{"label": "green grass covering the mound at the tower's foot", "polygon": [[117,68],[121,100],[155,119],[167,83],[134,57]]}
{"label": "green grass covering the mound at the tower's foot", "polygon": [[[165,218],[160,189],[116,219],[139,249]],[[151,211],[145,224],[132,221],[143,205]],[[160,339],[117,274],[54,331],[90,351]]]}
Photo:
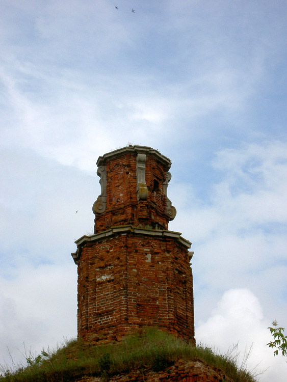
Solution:
{"label": "green grass covering the mound at the tower's foot", "polygon": [[164,370],[178,359],[200,360],[221,369],[234,382],[255,382],[245,366],[237,365],[238,354],[216,354],[211,348],[192,346],[158,329],[139,330],[124,341],[87,345],[71,341],[55,352],[26,358],[27,367],[4,371],[1,382],[68,382],[83,375],[110,376],[131,370]]}

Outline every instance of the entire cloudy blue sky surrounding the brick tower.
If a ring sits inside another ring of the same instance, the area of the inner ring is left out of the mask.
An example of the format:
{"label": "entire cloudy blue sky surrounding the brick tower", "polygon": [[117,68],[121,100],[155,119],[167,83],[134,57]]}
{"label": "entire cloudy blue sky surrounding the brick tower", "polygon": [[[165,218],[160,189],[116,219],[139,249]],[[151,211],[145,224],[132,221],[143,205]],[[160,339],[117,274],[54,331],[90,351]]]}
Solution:
{"label": "entire cloudy blue sky surrounding the brick tower", "polygon": [[260,381],[283,381],[265,344],[287,325],[286,16],[264,0],[0,3],[1,360],[76,336],[70,253],[93,231],[95,163],[132,143],[173,162],[197,341],[253,344]]}

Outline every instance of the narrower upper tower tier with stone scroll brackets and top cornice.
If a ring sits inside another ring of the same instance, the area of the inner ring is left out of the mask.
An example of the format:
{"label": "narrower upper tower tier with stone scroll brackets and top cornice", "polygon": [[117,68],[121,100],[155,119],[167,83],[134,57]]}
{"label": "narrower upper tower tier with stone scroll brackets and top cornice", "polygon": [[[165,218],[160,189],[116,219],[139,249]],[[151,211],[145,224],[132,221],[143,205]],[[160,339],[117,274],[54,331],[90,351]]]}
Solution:
{"label": "narrower upper tower tier with stone scroll brackets and top cornice", "polygon": [[176,215],[167,197],[169,158],[150,147],[127,146],[100,156],[97,166],[95,233],[123,225],[168,229]]}

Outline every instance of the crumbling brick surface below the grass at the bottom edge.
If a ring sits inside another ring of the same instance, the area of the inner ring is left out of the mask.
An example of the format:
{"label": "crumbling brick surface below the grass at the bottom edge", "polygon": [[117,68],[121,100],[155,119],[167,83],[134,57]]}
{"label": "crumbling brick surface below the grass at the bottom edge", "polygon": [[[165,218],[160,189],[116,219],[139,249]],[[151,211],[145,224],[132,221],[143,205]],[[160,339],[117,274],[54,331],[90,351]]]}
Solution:
{"label": "crumbling brick surface below the grass at the bottom edge", "polygon": [[[102,382],[100,377],[83,377],[76,382]],[[110,382],[232,382],[221,370],[207,366],[201,361],[179,360],[164,371],[135,370],[115,375]]]}

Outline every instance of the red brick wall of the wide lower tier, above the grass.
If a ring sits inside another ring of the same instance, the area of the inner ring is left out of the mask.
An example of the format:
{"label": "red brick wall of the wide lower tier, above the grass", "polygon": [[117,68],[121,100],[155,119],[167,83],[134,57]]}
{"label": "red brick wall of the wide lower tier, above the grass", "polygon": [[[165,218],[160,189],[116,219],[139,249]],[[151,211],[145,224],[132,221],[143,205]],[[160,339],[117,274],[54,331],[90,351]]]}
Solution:
{"label": "red brick wall of the wide lower tier, above the grass", "polygon": [[86,243],[78,263],[78,333],[119,339],[159,326],[194,341],[189,252],[172,238],[135,233]]}

